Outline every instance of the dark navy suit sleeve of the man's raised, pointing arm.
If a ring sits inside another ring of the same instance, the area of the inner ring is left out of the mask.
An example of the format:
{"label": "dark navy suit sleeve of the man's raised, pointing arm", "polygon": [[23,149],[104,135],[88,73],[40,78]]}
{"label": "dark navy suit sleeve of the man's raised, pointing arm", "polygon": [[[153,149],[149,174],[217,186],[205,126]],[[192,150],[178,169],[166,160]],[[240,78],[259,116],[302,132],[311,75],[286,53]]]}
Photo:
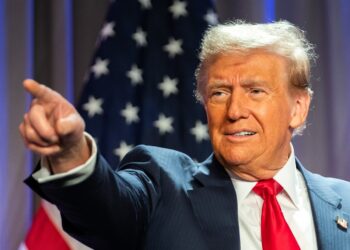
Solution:
{"label": "dark navy suit sleeve of the man's raised, pointing arm", "polygon": [[160,168],[143,147],[136,147],[112,170],[101,155],[92,174],[76,185],[64,178],[25,182],[57,205],[63,228],[93,249],[138,249],[160,197]]}

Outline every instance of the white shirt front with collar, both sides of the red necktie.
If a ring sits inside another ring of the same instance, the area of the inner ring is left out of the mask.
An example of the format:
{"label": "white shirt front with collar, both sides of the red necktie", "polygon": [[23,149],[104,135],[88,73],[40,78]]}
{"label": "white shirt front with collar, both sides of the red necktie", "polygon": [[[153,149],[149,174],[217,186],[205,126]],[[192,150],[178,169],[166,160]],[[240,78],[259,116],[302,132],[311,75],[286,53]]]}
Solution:
{"label": "white shirt front with collar, both sides of the red necktie", "polygon": [[[300,248],[317,250],[308,191],[302,174],[296,168],[292,145],[291,148],[292,152],[287,163],[273,178],[283,187],[283,191],[277,195],[277,201]],[[231,180],[237,195],[241,249],[260,250],[263,199],[252,190],[257,182],[243,181],[232,176]]]}

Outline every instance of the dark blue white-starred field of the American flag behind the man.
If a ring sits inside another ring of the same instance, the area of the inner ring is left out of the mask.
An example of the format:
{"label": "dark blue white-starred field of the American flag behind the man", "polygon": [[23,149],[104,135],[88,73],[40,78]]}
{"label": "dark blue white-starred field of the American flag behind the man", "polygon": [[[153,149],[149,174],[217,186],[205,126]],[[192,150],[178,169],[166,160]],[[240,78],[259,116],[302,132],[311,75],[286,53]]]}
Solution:
{"label": "dark blue white-starred field of the American flag behind the man", "polygon": [[217,22],[211,0],[111,2],[78,110],[113,166],[141,143],[209,155],[194,71],[203,32]]}

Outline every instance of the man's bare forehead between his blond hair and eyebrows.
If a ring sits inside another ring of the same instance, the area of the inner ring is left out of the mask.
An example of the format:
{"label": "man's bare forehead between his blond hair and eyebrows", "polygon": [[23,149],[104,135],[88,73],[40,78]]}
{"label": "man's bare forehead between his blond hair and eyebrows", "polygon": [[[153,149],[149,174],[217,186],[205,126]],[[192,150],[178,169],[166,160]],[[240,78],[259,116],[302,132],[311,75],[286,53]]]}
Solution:
{"label": "man's bare forehead between his blond hair and eyebrows", "polygon": [[207,62],[207,79],[231,81],[247,80],[286,80],[288,61],[282,56],[267,52],[226,53],[213,56]]}

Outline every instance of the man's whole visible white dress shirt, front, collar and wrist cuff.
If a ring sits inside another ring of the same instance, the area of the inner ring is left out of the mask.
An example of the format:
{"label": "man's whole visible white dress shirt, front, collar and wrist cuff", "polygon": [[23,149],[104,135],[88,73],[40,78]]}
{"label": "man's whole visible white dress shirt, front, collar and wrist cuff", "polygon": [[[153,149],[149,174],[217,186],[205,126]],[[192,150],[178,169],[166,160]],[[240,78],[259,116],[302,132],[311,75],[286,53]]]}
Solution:
{"label": "man's whole visible white dress shirt, front, collar and wrist cuff", "polygon": [[[86,133],[91,141],[92,154],[87,162],[66,173],[51,175],[47,161],[42,159],[41,169],[33,174],[39,183],[45,183],[66,177],[65,185],[74,185],[86,179],[94,170],[97,158],[97,146],[93,138]],[[277,195],[283,215],[292,230],[294,237],[302,250],[317,250],[316,233],[311,212],[310,200],[304,178],[296,169],[294,150],[291,145],[291,155],[274,179],[283,187]],[[260,221],[262,198],[252,191],[256,182],[247,182],[231,176],[236,190],[239,233],[242,250],[260,250]]]}

